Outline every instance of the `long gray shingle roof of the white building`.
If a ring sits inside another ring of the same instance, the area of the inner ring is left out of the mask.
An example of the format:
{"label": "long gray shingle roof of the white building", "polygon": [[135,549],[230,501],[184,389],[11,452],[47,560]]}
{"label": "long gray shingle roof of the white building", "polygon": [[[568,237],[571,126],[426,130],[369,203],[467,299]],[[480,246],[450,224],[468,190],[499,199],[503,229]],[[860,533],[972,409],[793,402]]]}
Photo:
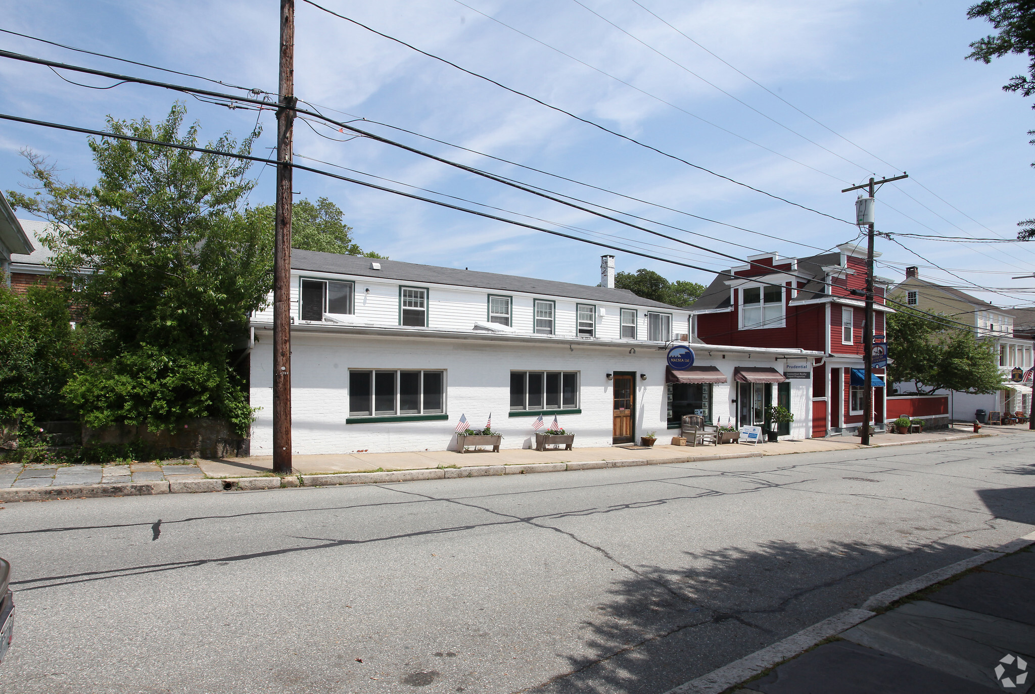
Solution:
{"label": "long gray shingle roof of the white building", "polygon": [[[372,270],[371,262],[380,263],[380,270]],[[441,268],[434,265],[418,265],[401,261],[382,261],[357,255],[321,253],[315,250],[291,250],[291,268],[310,272],[333,272],[359,277],[397,279],[413,283],[455,284],[476,286],[498,292],[522,292],[551,297],[570,297],[586,301],[605,301],[616,304],[647,306],[651,308],[678,308],[650,299],[644,299],[628,290],[611,290],[602,286],[587,286],[552,279],[535,279],[516,275],[501,275],[495,272]]]}

